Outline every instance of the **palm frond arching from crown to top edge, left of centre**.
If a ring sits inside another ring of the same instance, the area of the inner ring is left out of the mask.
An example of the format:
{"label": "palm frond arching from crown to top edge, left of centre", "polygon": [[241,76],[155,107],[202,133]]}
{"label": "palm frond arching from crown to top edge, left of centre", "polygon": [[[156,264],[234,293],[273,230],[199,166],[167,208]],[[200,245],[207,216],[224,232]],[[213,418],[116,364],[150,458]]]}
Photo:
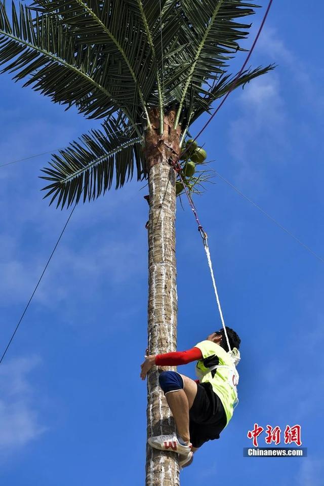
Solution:
{"label": "palm frond arching from crown to top edge, left of centre", "polygon": [[152,62],[154,55],[147,31],[128,2],[39,0],[33,8],[59,18],[78,43],[98,46],[102,56],[112,57],[117,67],[110,79],[113,91],[124,93],[133,105],[138,98],[147,115],[146,100],[156,80],[156,65]]}

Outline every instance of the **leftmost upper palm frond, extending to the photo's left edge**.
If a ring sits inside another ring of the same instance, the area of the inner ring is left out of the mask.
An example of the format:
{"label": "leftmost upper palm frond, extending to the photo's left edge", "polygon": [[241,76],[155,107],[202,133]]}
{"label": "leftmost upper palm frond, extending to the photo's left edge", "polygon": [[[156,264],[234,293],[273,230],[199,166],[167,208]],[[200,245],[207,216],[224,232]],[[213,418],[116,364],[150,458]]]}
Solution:
{"label": "leftmost upper palm frond, extending to the photo's left edge", "polygon": [[11,18],[0,1],[0,65],[15,81],[31,86],[55,103],[75,105],[89,117],[101,118],[123,106],[123,97],[106,87],[109,60],[90,46],[76,45],[54,17],[36,14],[20,4]]}

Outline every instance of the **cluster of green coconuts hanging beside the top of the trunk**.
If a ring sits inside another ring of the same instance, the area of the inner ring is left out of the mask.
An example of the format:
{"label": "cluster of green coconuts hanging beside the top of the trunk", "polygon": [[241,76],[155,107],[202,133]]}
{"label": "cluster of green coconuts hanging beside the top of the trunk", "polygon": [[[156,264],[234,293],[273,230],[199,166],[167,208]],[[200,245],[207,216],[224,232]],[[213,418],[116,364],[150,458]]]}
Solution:
{"label": "cluster of green coconuts hanging beside the top of the trunk", "polygon": [[[184,163],[181,165],[182,179],[184,184],[189,190],[192,190],[195,184],[194,173],[196,172],[196,165],[203,164],[207,158],[206,150],[203,147],[199,147],[197,142],[192,138],[187,140],[183,147],[183,155],[180,160]],[[183,183],[181,181],[176,182],[176,194],[179,195],[183,191]]]}

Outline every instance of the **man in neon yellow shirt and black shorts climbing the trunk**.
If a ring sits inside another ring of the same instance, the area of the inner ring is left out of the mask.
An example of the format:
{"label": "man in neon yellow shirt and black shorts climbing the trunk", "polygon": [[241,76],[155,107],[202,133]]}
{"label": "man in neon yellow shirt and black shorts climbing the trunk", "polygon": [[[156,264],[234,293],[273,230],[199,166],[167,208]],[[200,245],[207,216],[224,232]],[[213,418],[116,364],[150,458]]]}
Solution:
{"label": "man in neon yellow shirt and black shorts climbing the trunk", "polygon": [[198,380],[175,371],[159,374],[158,381],[173,414],[176,434],[148,438],[153,448],[178,453],[181,467],[191,464],[193,453],[203,443],[219,438],[238,402],[235,365],[240,359],[240,339],[232,329],[225,330],[210,334],[206,341],[187,351],[146,355],[141,365],[140,376],[145,380],[154,365],[186,365],[197,360]]}

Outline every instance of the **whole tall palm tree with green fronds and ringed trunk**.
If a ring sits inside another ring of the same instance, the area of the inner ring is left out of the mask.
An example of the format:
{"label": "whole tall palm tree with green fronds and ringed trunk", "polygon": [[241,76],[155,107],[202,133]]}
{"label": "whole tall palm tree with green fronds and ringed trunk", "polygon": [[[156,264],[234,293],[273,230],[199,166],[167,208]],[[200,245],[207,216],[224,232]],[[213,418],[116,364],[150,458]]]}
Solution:
{"label": "whole tall palm tree with green fronds and ringed trunk", "polygon": [[[43,170],[57,207],[90,201],[113,185],[148,180],[148,349],[177,343],[176,178],[191,124],[232,88],[228,61],[254,13],[242,0],[38,0],[9,11],[0,0],[0,64],[54,103],[102,120]],[[272,66],[242,72],[235,87]],[[147,434],[173,418],[147,380]],[[179,484],[176,455],[147,448],[146,484]]]}

